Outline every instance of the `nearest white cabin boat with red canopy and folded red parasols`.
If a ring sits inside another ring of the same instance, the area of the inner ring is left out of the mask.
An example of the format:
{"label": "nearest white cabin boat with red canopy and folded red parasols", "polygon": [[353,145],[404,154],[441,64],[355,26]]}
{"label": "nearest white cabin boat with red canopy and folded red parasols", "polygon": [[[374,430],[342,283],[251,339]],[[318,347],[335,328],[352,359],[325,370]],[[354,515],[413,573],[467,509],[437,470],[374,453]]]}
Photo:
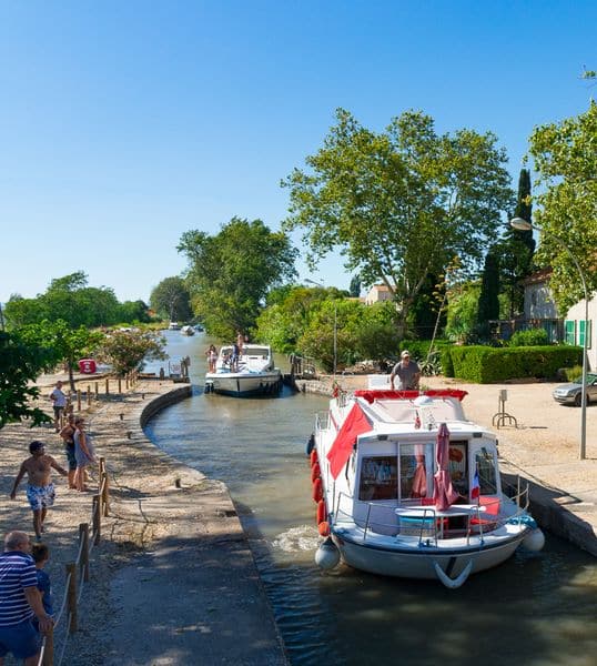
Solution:
{"label": "nearest white cabin boat with red canopy and folded red parasols", "polygon": [[[336,391],[337,392],[337,391]],[[320,534],[315,559],[463,585],[522,544],[539,551],[528,484],[507,492],[497,440],[465,418],[464,391],[337,392],[307,452]]]}

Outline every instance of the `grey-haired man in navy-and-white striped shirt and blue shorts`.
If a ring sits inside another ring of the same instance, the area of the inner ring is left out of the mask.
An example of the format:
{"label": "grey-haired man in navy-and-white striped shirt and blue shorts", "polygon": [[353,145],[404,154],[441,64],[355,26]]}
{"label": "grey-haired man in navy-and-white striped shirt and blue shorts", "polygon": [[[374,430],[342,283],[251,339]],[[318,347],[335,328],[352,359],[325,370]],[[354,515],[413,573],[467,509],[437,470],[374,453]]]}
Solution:
{"label": "grey-haired man in navy-and-white striped shirt and blue shorts", "polygon": [[31,541],[24,532],[7,534],[4,552],[0,555],[0,666],[7,653],[23,659],[26,666],[36,666],[40,635],[31,619],[38,618],[42,633],[52,626],[52,618],[41,603],[30,551]]}

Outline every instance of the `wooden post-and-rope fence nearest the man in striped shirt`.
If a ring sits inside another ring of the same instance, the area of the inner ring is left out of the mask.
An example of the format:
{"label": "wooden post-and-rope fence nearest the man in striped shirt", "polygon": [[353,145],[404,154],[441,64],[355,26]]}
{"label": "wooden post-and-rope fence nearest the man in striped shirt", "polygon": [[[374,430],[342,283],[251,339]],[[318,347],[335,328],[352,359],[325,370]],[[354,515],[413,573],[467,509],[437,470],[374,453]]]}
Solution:
{"label": "wooden post-and-rope fence nearest the man in striped shirt", "polygon": [[[60,666],[71,634],[78,627],[78,605],[81,601],[84,583],[89,582],[93,548],[100,544],[102,517],[108,516],[110,506],[110,491],[105,458],[100,457],[98,463],[99,481],[98,493],[92,498],[91,531],[89,523],[79,525],[79,549],[74,562],[65,564],[67,584],[60,609],[54,616],[50,632],[44,635],[38,666]],[[57,634],[60,639],[57,640]],[[57,643],[60,645],[57,647]]]}

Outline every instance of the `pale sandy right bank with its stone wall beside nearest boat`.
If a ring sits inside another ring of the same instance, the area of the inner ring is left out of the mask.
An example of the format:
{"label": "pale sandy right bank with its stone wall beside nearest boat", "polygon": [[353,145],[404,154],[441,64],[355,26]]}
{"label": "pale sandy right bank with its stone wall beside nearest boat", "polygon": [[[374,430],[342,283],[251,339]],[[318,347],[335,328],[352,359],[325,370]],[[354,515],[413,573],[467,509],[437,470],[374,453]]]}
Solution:
{"label": "pale sandy right bank with its stone wall beside nearest boat", "polygon": [[[367,375],[323,376],[294,381],[296,391],[332,395],[367,387]],[[463,389],[465,414],[498,435],[506,482],[529,483],[529,509],[540,527],[597,556],[597,406],[587,410],[587,457],[578,460],[580,411],[556,404],[548,382],[469,384],[447,377],[423,377],[424,389]],[[498,397],[508,396],[515,421],[497,428]]]}

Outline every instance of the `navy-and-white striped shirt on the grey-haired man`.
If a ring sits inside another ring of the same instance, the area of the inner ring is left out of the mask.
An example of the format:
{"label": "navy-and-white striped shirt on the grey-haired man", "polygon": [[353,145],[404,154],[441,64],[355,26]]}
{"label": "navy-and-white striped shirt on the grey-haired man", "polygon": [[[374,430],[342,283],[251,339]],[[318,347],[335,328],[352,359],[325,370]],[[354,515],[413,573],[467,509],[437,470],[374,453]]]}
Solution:
{"label": "navy-and-white striped shirt on the grey-haired man", "polygon": [[36,563],[21,551],[0,554],[0,626],[8,627],[33,617],[23,588],[37,587]]}

